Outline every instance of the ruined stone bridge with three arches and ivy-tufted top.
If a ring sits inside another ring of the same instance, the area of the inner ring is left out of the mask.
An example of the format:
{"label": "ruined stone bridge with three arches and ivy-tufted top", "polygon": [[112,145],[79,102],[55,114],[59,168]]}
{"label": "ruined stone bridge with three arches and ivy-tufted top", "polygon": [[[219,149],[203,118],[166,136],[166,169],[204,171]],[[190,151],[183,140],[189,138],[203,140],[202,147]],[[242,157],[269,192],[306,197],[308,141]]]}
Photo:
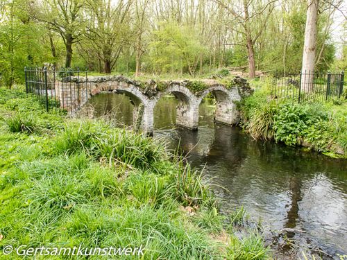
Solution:
{"label": "ruined stone bridge with three arches and ivy-tufted top", "polygon": [[246,80],[235,78],[230,87],[216,80],[199,81],[198,84],[200,84],[199,91],[192,91],[190,89],[194,89],[194,81],[189,80],[160,82],[149,80],[140,83],[123,76],[71,77],[56,82],[56,96],[63,108],[74,112],[87,103],[91,96],[101,92],[126,94],[135,106],[134,121],[142,103],[141,128],[144,132],[153,132],[153,112],[160,97],[174,94],[178,100],[176,124],[194,130],[198,128],[198,107],[203,98],[212,93],[217,101],[215,121],[227,125],[237,123],[239,113],[234,102],[241,100],[245,89],[249,90]]}

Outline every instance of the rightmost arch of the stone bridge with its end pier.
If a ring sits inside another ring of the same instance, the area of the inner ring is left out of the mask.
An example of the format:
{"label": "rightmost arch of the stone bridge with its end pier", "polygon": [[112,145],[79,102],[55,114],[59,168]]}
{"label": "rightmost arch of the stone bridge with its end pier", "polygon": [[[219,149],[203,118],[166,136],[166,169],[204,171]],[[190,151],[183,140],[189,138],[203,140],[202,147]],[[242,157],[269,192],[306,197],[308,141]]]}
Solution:
{"label": "rightmost arch of the stone bridge with its end pier", "polygon": [[233,125],[237,123],[238,112],[233,101],[240,101],[239,92],[236,87],[226,89],[223,85],[212,85],[198,96],[198,104],[203,101],[203,98],[208,94],[213,94],[216,98],[216,112],[214,120],[219,123]]}

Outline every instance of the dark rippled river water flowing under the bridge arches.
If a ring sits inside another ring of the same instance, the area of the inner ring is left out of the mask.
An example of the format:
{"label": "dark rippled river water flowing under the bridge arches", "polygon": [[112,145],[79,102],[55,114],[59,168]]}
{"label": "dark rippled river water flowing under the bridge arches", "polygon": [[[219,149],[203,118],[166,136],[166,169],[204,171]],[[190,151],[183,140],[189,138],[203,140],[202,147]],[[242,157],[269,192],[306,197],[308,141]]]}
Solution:
{"label": "dark rippled river water flowing under the bridge arches", "polygon": [[[133,105],[128,97],[99,94],[91,103],[97,115],[109,112],[131,125]],[[214,124],[214,106],[208,101],[200,105],[198,131],[176,129],[176,104],[172,96],[160,99],[154,137],[189,152],[192,166],[204,168],[206,178],[226,188],[214,188],[223,200],[223,211],[244,205],[267,229],[301,229],[305,233],[296,236],[331,254],[347,253],[346,160],[253,141],[239,128]]]}

